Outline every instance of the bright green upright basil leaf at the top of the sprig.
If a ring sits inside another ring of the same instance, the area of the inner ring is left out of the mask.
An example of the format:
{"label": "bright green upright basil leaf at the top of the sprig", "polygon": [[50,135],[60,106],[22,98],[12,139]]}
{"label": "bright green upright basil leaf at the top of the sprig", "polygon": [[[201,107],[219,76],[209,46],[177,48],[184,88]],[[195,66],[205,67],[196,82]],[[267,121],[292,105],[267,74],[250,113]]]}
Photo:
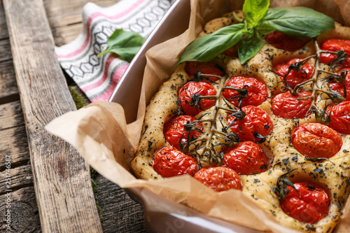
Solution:
{"label": "bright green upright basil leaf at the top of the sprig", "polygon": [[248,29],[262,22],[269,8],[269,0],[246,0],[243,5],[243,15]]}

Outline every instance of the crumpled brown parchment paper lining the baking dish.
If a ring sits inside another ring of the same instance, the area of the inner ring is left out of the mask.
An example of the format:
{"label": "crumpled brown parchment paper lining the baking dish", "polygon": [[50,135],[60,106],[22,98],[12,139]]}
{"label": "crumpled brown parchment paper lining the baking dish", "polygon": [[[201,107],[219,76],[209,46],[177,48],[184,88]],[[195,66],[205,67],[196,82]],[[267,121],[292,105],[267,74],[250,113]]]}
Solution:
{"label": "crumpled brown parchment paper lining the baking dish", "polygon": [[[241,9],[243,2],[191,0],[188,30],[177,38],[151,48],[146,54],[147,65],[135,122],[126,124],[120,105],[97,101],[79,111],[62,115],[50,122],[46,129],[71,143],[99,174],[123,188],[147,188],[209,216],[255,230],[296,232],[276,223],[269,213],[265,213],[239,190],[214,192],[190,176],[143,181],[135,178],[130,170],[148,101],[174,71],[181,53],[202,31],[204,23],[214,17],[220,17],[223,13]],[[338,22],[350,24],[350,2],[346,0],[272,0],[270,6],[307,6],[333,17]],[[174,44],[176,46],[173,46]],[[349,218],[348,202],[336,232],[349,232]]]}

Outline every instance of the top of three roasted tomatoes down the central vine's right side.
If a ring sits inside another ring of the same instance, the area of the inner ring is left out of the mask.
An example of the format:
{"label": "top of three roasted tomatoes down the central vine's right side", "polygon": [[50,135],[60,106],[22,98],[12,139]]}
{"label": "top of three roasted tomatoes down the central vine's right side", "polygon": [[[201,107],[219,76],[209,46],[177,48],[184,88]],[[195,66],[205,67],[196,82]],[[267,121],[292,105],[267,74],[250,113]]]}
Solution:
{"label": "top of three roasted tomatoes down the central vine's right side", "polygon": [[[244,78],[244,77],[233,77],[228,83],[226,83],[227,87],[238,87],[243,89],[246,86],[246,90],[248,90],[248,96],[243,98],[241,101],[242,106],[252,105],[258,106],[262,104],[263,101],[267,98],[267,87],[264,83],[256,80],[255,78]],[[225,89],[223,91],[223,97],[228,99],[232,104],[238,106],[237,95],[239,92],[235,90]]]}

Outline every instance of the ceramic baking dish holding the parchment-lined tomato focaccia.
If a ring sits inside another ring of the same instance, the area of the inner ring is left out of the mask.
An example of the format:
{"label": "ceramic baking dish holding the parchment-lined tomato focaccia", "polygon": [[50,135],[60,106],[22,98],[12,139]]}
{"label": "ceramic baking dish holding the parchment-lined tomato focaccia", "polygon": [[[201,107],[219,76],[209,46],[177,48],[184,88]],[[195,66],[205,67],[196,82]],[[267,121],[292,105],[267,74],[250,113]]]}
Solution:
{"label": "ceramic baking dish holding the parchment-lined tomato focaccia", "polygon": [[[178,0],[157,24],[144,45],[130,63],[109,101],[121,104],[127,122],[136,120],[141,83],[146,66],[146,52],[158,43],[179,36],[188,29],[190,0]],[[246,227],[194,211],[181,204],[155,195],[143,188],[127,188],[128,195],[145,206],[145,225],[148,232],[243,232],[255,233]],[[172,211],[170,211],[172,210]],[[174,211],[176,210],[176,211]]]}

